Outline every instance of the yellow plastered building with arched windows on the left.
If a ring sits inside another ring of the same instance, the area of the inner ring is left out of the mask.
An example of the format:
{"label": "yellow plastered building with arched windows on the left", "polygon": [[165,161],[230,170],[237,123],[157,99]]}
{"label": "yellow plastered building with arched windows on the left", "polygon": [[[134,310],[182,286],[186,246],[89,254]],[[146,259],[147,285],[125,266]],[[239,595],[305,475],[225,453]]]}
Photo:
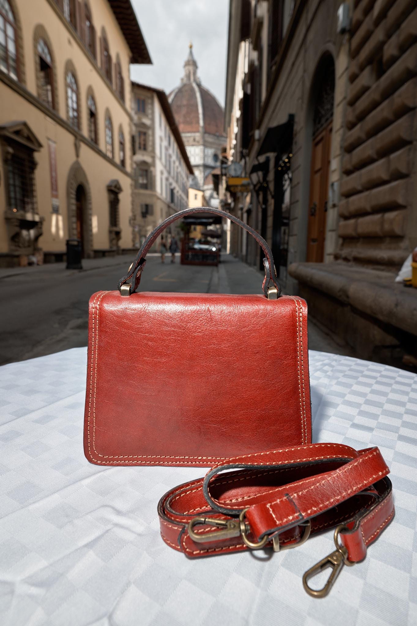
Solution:
{"label": "yellow plastered building with arched windows on the left", "polygon": [[1,264],[131,247],[130,1],[2,0],[0,33]]}

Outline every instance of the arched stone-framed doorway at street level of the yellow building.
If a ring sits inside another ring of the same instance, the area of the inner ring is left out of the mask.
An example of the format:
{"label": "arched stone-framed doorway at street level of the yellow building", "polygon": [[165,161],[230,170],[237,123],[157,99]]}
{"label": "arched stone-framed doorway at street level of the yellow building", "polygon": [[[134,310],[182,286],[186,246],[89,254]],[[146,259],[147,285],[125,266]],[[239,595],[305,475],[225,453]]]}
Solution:
{"label": "arched stone-framed doorway at street level of the yellow building", "polygon": [[83,257],[91,259],[93,254],[93,227],[91,225],[91,188],[79,161],[70,167],[66,183],[66,205],[68,212],[68,239],[81,236]]}

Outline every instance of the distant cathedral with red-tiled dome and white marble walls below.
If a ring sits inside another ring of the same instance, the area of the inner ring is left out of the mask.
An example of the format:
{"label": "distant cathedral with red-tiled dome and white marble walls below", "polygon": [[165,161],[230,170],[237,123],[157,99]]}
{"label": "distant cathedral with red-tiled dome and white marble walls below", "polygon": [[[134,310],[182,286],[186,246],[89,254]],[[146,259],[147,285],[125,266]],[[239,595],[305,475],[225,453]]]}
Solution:
{"label": "distant cathedral with red-tiled dome and white marble walls below", "polygon": [[[219,167],[225,146],[224,111],[219,101],[202,86],[190,44],[181,85],[168,95],[173,115],[190,158],[198,187],[217,206],[210,173]],[[195,184],[195,183],[194,183]]]}

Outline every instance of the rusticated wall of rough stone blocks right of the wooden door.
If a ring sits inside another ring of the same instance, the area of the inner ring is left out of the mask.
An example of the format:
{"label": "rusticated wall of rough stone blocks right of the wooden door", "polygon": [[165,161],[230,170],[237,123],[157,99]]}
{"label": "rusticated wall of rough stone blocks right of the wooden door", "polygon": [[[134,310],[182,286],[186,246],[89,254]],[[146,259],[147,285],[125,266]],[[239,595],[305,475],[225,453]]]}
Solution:
{"label": "rusticated wall of rough stone blocks right of the wooden door", "polygon": [[417,245],[415,0],[355,0],[336,258],[396,270]]}

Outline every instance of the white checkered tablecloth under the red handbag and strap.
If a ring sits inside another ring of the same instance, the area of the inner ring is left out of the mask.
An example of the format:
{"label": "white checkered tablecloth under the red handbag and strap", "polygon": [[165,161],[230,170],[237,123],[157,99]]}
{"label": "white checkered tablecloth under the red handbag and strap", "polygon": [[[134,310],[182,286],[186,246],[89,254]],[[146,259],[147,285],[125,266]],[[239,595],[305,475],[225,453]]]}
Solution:
{"label": "white checkered tablecloth under the red handbag and strap", "polygon": [[317,600],[302,573],[331,532],[276,554],[168,548],[158,500],[205,470],[88,463],[85,371],[85,348],[0,367],[2,626],[417,624],[417,376],[310,353],[314,441],[378,445],[396,503],[366,560]]}

